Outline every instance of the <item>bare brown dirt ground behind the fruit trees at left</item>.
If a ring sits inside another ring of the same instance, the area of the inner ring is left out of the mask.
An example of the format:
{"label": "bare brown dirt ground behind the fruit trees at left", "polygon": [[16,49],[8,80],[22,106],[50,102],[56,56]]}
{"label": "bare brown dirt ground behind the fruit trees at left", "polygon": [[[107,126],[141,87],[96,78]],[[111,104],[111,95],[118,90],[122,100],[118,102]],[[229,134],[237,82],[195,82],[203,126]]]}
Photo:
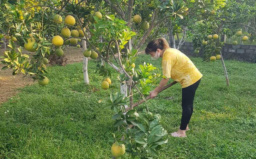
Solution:
{"label": "bare brown dirt ground behind the fruit trees at left", "polygon": [[[3,55],[4,49],[0,48],[0,56]],[[69,47],[64,50],[68,58],[67,63],[72,64],[76,62],[83,61],[82,48]],[[23,53],[32,55],[30,52],[23,49]],[[142,54],[139,52],[138,54]],[[2,59],[0,59],[2,60]],[[17,88],[22,88],[27,85],[31,85],[34,80],[31,77],[24,77],[24,74],[18,73],[17,75],[12,75],[11,69],[1,70],[4,65],[0,64],[0,104],[8,100],[8,98],[14,96],[19,91]]]}

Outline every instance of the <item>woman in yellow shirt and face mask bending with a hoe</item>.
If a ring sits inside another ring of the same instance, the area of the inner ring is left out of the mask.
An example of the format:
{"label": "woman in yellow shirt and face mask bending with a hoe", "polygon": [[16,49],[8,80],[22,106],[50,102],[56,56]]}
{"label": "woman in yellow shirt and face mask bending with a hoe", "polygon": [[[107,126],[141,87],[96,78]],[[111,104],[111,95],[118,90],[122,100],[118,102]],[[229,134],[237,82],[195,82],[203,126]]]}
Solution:
{"label": "woman in yellow shirt and face mask bending with a hoe", "polygon": [[151,55],[153,60],[162,57],[162,72],[163,78],[160,86],[157,86],[150,92],[150,98],[156,97],[159,90],[161,90],[169,78],[181,84],[182,87],[182,116],[180,129],[172,133],[174,137],[186,137],[188,123],[193,113],[193,101],[196,89],[203,76],[193,64],[193,62],[182,52],[177,49],[170,48],[164,38],[152,40],[148,43],[145,53]]}

